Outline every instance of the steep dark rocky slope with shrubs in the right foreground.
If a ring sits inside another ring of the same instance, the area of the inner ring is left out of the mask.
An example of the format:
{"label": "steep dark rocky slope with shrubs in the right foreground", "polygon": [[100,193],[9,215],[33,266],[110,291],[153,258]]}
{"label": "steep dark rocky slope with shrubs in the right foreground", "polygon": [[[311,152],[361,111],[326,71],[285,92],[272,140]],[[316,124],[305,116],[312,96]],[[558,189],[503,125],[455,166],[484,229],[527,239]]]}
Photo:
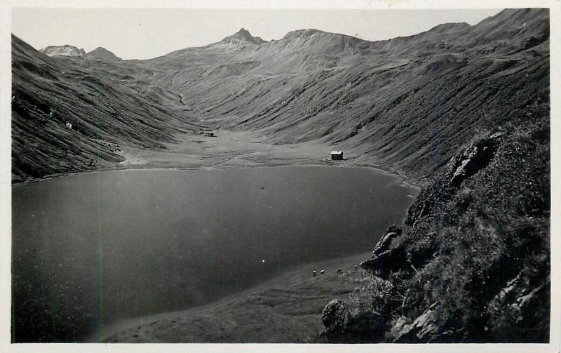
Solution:
{"label": "steep dark rocky slope with shrubs in the right foreground", "polygon": [[323,339],[548,342],[549,121],[534,113],[440,168],[363,262],[375,277],[326,307]]}

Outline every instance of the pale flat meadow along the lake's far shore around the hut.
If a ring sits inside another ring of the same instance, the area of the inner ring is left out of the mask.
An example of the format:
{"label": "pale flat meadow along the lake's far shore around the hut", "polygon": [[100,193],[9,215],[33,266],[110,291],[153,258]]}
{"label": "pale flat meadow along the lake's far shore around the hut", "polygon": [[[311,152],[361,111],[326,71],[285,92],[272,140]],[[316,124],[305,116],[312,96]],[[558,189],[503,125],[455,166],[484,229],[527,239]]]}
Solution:
{"label": "pale flat meadow along the lake's far shore around the hut", "polygon": [[[95,170],[79,171],[76,173],[53,173],[46,175],[43,178],[28,178],[26,180],[13,181],[14,185],[27,185],[43,180],[51,180],[56,178],[64,178],[67,176],[83,175],[88,173],[99,173],[107,171],[128,171],[128,170],[212,170],[212,169],[229,169],[229,168],[273,168],[280,166],[332,166],[339,168],[372,168],[377,171],[384,171],[391,175],[396,175],[402,178],[403,184],[407,187],[413,187],[420,190],[416,184],[418,180],[411,180],[404,173],[392,168],[391,166],[381,166],[370,162],[367,158],[366,161],[353,161],[356,156],[352,156],[344,161],[331,161],[320,158],[322,153],[335,148],[335,146],[321,145],[320,142],[303,142],[299,144],[288,145],[273,145],[268,142],[251,141],[255,138],[255,133],[247,131],[220,131],[220,135],[215,139],[201,138],[198,135],[180,134],[175,138],[176,142],[170,142],[166,145],[166,149],[162,150],[143,150],[143,149],[128,149],[123,147],[123,156],[126,158],[138,158],[144,162],[142,164],[127,164],[126,161],[119,162],[118,164],[111,164],[109,166],[100,166]],[[252,138],[250,138],[252,137]],[[250,140],[248,142],[248,140]],[[194,152],[194,145],[205,145],[203,151]],[[208,147],[207,147],[208,145]],[[214,151],[218,147],[226,145],[227,153],[222,150]],[[250,146],[250,153],[245,149]],[[210,152],[206,152],[210,149]],[[299,154],[302,152],[302,154]],[[353,155],[353,152],[349,152]],[[226,156],[224,156],[226,154]],[[245,159],[250,154],[259,154],[261,159],[257,161]],[[173,156],[173,161],[166,160]],[[189,159],[189,157],[192,158]],[[215,164],[203,164],[205,159],[217,159]],[[224,159],[224,160],[222,160]],[[236,159],[239,164],[227,164],[229,161]],[[302,160],[304,159],[304,160]],[[171,164],[171,165],[170,165]]]}

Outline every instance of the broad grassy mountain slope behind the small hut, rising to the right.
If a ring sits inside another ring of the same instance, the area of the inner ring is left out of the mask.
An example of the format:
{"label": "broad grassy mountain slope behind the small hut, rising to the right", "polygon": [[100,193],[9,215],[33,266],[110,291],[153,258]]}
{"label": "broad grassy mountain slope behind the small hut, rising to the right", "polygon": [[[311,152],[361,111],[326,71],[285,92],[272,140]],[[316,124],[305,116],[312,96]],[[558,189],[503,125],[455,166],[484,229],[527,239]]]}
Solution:
{"label": "broad grassy mountain slope behind the small hut, rising to the right", "polygon": [[474,26],[377,42],[306,29],[235,48],[224,39],[141,66],[210,124],[276,143],[321,139],[351,149],[358,163],[374,156],[422,178],[435,168],[435,144],[445,162],[476,126],[543,103],[547,17],[547,9],[506,10]]}

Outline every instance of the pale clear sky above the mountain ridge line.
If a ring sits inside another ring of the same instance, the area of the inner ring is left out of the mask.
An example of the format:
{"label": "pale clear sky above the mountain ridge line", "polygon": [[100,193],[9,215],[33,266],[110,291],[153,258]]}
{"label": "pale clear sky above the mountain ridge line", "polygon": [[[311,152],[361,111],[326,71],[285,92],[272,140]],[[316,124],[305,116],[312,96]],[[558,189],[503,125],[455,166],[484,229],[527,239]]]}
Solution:
{"label": "pale clear sky above the mountain ridge line", "polygon": [[123,59],[148,59],[215,43],[241,27],[266,41],[308,28],[376,41],[447,22],[475,25],[499,11],[13,8],[11,30],[36,49],[69,44],[88,52],[102,46]]}

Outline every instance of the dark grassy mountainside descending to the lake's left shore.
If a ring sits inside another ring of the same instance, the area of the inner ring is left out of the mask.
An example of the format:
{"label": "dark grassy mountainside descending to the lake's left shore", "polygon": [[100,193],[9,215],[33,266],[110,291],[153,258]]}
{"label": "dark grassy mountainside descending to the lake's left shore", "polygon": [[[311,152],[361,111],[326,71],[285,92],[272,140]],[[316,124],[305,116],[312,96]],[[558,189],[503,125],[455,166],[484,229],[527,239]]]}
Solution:
{"label": "dark grassy mountainside descending to the lake's left shore", "polygon": [[49,58],[16,36],[12,49],[13,180],[114,166],[123,146],[163,148],[198,129],[178,95],[128,84],[118,64]]}

